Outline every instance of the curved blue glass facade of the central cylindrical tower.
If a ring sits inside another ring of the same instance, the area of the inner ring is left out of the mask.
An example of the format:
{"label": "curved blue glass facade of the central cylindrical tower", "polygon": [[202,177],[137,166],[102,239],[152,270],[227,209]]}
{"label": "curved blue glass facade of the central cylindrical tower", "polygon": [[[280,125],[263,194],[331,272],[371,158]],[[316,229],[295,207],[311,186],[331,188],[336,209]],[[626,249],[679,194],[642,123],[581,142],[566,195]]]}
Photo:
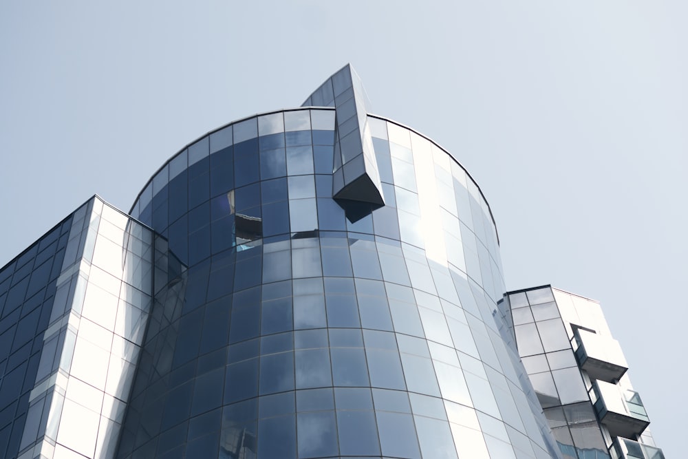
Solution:
{"label": "curved blue glass facade of the central cylindrical tower", "polygon": [[155,287],[120,457],[557,457],[495,313],[482,193],[367,116],[385,204],[349,217],[339,107],[228,125],[140,194],[181,268]]}

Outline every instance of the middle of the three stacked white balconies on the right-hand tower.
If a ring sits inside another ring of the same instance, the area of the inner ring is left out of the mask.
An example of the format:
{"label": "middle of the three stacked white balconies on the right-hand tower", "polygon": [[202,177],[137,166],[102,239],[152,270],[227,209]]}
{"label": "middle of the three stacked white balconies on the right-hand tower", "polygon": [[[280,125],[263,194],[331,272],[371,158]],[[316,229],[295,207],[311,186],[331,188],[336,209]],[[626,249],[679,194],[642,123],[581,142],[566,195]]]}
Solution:
{"label": "middle of the three stacked white balconies on the right-hand tower", "polygon": [[601,423],[614,437],[639,436],[649,425],[649,418],[638,392],[595,381],[592,387],[594,407]]}

